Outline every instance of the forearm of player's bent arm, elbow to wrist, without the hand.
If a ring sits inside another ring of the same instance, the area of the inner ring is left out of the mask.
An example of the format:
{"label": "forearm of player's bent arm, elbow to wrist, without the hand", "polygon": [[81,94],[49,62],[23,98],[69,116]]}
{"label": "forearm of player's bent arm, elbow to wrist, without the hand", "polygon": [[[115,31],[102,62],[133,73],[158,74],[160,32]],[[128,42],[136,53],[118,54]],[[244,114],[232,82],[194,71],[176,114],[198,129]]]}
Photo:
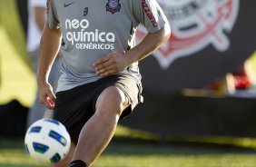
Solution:
{"label": "forearm of player's bent arm, elbow to wrist, without the hand", "polygon": [[156,33],[148,33],[144,36],[142,42],[126,52],[131,62],[137,62],[152,54],[161,44],[170,37],[171,30],[169,25],[165,25]]}

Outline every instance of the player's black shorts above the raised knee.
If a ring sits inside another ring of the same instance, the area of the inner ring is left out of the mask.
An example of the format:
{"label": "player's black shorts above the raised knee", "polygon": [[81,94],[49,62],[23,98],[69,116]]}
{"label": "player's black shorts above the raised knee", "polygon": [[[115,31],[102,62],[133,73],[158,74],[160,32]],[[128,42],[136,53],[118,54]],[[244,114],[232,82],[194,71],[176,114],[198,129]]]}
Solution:
{"label": "player's black shorts above the raised knee", "polygon": [[142,102],[141,82],[130,75],[114,74],[94,83],[56,93],[53,118],[64,124],[73,142],[78,142],[84,123],[94,114],[98,96],[109,86],[121,89],[129,100],[129,106],[123,111],[121,118],[132,113],[133,108]]}

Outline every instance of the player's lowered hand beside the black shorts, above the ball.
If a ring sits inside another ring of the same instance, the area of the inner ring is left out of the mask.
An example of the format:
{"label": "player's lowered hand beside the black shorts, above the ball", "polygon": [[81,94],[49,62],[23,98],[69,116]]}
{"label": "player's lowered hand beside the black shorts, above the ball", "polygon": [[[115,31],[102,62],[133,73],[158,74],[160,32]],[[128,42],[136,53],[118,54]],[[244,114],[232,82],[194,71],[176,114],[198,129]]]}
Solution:
{"label": "player's lowered hand beside the black shorts, above the ball", "polygon": [[55,95],[50,83],[38,84],[39,101],[44,104],[48,109],[53,110],[55,104]]}

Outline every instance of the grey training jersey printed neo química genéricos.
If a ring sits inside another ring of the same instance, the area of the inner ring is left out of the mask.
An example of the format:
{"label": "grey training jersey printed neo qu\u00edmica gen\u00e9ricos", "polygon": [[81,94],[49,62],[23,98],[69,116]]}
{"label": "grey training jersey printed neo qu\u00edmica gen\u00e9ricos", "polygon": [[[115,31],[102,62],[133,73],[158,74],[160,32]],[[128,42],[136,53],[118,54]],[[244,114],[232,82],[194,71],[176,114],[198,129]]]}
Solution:
{"label": "grey training jersey printed neo qu\u00edmica gen\u00e9ricos", "polygon": [[[57,92],[100,79],[94,62],[111,52],[133,48],[139,24],[154,33],[168,22],[155,0],[48,0],[47,13],[50,28],[61,28],[63,34]],[[141,79],[138,63],[121,74]]]}

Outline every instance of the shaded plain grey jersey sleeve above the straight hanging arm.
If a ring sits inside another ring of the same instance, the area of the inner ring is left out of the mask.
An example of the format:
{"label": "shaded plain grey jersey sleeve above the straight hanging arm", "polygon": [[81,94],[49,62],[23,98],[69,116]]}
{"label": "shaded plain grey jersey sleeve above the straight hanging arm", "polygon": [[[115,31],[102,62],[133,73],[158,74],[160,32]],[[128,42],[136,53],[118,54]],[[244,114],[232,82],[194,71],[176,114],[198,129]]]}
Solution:
{"label": "shaded plain grey jersey sleeve above the straight hanging arm", "polygon": [[47,0],[47,22],[50,29],[58,29],[60,27],[54,0]]}

